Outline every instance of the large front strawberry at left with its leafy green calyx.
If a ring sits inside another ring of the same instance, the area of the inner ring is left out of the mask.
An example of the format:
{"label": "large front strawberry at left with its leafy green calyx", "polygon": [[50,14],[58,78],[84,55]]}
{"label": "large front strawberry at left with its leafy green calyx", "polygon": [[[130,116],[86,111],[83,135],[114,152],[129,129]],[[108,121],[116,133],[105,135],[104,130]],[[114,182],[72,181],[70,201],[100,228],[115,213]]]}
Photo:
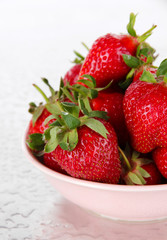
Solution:
{"label": "large front strawberry at left with its leafy green calyx", "polygon": [[[91,78],[89,84],[93,86]],[[82,89],[85,94],[91,90],[96,91],[81,85],[78,87],[79,93]],[[65,92],[71,98],[66,86],[60,90],[60,97]],[[111,124],[106,121],[106,112],[91,110],[87,97],[82,94],[75,99],[75,103],[57,100],[47,103],[46,107],[51,116],[45,123],[50,119],[57,120],[44,134],[32,134],[29,142],[30,147],[42,149],[44,163],[52,169],[58,163],[73,177],[118,183],[121,166],[117,136]]]}

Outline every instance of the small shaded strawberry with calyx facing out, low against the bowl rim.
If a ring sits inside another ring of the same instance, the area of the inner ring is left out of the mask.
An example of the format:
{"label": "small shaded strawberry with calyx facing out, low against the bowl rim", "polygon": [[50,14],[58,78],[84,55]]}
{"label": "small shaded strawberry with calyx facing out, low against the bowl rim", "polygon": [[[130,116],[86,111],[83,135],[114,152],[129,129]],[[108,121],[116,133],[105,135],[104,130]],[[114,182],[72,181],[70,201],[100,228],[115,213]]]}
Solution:
{"label": "small shaded strawberry with calyx facing out, low against the bowl rim", "polygon": [[121,179],[128,185],[154,185],[162,183],[162,175],[155,163],[139,152],[126,146],[125,152],[120,148],[122,159]]}

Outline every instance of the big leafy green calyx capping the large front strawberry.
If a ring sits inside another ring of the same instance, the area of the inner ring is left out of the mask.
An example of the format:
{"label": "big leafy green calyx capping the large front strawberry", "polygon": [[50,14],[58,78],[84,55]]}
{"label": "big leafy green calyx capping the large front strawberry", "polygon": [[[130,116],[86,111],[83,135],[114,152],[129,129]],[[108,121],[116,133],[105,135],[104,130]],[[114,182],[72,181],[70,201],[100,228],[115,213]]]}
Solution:
{"label": "big leafy green calyx capping the large front strawberry", "polygon": [[[107,113],[104,111],[93,111],[89,104],[88,96],[94,94],[91,93],[93,86],[96,86],[95,80],[90,78],[89,87],[86,88],[80,84],[76,87],[78,91],[74,91],[73,86],[63,85],[63,81],[60,82],[60,89],[57,92],[57,98],[54,101],[47,101],[44,107],[51,113],[44,121],[44,124],[48,124],[51,119],[56,119],[49,124],[49,127],[43,134],[31,134],[27,140],[28,146],[40,152],[38,155],[44,152],[52,152],[58,145],[63,150],[72,151],[78,143],[78,131],[79,127],[83,125],[99,133],[104,138],[107,138],[108,131],[101,121],[98,119],[108,120]],[[71,89],[72,88],[72,91]],[[37,87],[37,89],[39,89]],[[69,90],[70,89],[70,90]],[[40,89],[39,89],[40,90]],[[69,101],[62,101],[62,99],[69,99]]]}

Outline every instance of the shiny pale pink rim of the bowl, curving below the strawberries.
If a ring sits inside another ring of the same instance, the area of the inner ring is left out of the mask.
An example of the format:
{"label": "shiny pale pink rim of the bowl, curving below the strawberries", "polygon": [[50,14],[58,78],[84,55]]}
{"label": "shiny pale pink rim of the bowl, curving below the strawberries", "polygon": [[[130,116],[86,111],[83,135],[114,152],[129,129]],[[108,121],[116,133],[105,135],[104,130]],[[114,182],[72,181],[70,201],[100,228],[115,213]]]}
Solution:
{"label": "shiny pale pink rim of the bowl, curving below the strawberries", "polygon": [[48,168],[47,166],[45,166],[33,155],[31,150],[28,148],[28,145],[26,144],[26,135],[27,134],[24,134],[24,137],[22,140],[22,150],[25,156],[41,172],[45,173],[46,175],[49,175],[50,177],[56,178],[60,181],[64,181],[64,182],[72,183],[74,185],[79,185],[79,186],[88,187],[92,189],[118,191],[118,192],[152,192],[152,191],[167,190],[167,184],[145,185],[145,186],[109,184],[109,183],[100,183],[100,182],[93,182],[93,181],[78,179],[78,178],[65,175],[63,173],[56,172]]}

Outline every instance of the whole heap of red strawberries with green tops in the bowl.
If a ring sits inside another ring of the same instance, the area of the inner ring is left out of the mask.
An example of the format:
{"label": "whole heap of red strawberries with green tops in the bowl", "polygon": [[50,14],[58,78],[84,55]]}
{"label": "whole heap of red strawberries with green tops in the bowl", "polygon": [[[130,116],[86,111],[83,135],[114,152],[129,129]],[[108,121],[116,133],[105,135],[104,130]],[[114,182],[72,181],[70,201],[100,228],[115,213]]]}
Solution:
{"label": "whole heap of red strawberries with green tops in the bowl", "polygon": [[138,36],[136,15],[128,34],[106,34],[51,95],[34,84],[44,103],[33,114],[27,144],[47,167],[75,178],[128,185],[167,179],[167,59],[153,65],[155,50]]}

